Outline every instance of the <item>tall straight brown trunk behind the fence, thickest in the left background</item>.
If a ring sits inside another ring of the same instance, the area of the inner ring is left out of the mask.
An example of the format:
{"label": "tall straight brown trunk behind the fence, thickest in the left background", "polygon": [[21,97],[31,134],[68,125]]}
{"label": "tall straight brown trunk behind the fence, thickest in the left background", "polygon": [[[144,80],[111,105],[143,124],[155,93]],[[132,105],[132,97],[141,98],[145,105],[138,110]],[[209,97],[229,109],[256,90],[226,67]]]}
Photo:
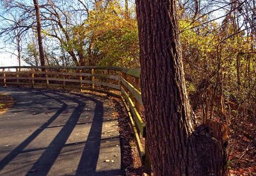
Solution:
{"label": "tall straight brown trunk behind the fence, thickest in the left background", "polygon": [[40,63],[41,63],[41,66],[45,66],[40,10],[39,10],[38,1],[33,0],[33,2],[34,2],[35,10],[36,10],[36,31],[37,31],[37,37],[38,37]]}

